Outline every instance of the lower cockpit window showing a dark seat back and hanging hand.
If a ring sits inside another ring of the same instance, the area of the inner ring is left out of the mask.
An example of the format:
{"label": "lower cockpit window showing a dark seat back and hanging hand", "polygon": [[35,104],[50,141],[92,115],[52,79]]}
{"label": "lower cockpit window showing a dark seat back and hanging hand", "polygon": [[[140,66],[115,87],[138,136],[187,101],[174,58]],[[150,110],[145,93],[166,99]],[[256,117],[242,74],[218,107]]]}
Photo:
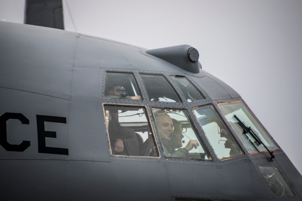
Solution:
{"label": "lower cockpit window showing a dark seat back and hanging hand", "polygon": [[104,104],[112,155],[158,157],[145,107]]}

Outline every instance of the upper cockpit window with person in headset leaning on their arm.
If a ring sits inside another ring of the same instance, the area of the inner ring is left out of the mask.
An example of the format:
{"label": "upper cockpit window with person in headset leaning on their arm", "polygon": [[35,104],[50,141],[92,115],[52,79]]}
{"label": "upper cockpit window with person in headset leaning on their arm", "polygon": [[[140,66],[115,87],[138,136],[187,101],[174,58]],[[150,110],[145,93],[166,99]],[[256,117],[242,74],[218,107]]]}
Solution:
{"label": "upper cockpit window with person in headset leaning on their arm", "polygon": [[132,73],[114,72],[106,72],[104,97],[113,99],[142,99]]}

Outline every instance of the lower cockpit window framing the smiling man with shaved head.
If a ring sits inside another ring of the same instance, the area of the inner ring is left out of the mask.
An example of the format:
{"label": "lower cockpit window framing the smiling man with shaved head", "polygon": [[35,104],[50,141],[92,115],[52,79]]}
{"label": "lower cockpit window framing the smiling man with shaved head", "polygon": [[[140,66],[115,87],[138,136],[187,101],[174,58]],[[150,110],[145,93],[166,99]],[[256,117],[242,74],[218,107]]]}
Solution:
{"label": "lower cockpit window framing the smiling man with shaved head", "polygon": [[211,159],[185,110],[153,108],[152,111],[166,157]]}

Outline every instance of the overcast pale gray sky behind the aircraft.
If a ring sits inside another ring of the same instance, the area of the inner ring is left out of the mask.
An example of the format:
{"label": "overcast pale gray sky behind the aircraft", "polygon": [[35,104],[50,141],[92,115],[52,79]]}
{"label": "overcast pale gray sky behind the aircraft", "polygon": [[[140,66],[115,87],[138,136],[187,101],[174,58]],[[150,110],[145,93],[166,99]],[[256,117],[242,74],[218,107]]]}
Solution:
{"label": "overcast pale gray sky behind the aircraft", "polygon": [[[188,44],[302,173],[302,1],[63,0],[65,29],[147,49]],[[24,0],[0,0],[23,23]],[[72,23],[74,22],[74,24]]]}

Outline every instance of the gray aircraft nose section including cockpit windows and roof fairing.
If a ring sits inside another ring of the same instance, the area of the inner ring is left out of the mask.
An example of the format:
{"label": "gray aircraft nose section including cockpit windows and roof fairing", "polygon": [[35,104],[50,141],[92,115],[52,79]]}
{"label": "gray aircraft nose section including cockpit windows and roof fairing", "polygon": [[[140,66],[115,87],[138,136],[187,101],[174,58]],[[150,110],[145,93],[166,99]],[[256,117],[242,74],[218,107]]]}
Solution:
{"label": "gray aircraft nose section including cockpit windows and roof fairing", "polygon": [[[1,200],[301,200],[300,173],[191,46],[147,50],[2,21],[0,36]],[[120,81],[132,87],[106,96]],[[139,154],[113,150],[114,115],[147,132]],[[167,154],[160,115],[179,117],[184,146],[193,133],[202,151]]]}

